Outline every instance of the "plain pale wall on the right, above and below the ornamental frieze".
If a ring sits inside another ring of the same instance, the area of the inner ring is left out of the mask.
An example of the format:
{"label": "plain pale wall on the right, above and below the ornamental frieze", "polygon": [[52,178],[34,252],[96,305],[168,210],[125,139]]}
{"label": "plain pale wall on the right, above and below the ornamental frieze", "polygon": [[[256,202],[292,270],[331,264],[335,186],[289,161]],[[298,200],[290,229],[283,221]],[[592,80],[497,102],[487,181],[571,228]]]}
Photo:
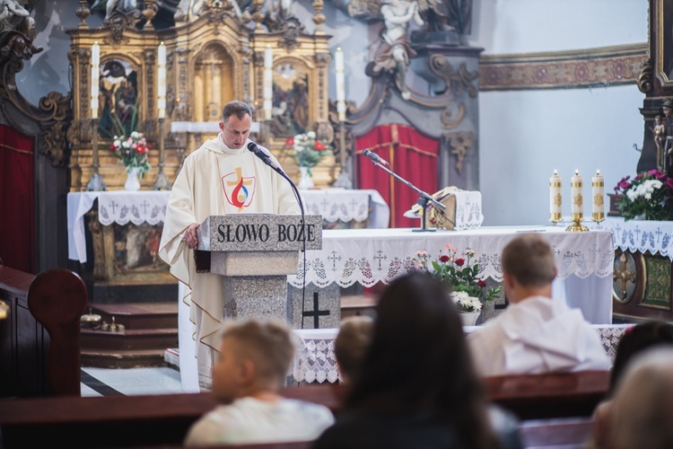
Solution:
{"label": "plain pale wall on the right, above and below the ornamental frieze", "polygon": [[[476,1],[470,44],[484,54],[598,48],[647,42],[647,0]],[[584,180],[590,219],[590,178],[604,175],[606,193],[634,175],[644,125],[644,94],[632,85],[599,89],[479,93],[480,189],[485,225],[545,225],[549,177]],[[607,202],[607,198],[606,198]],[[607,205],[606,205],[607,210]]]}

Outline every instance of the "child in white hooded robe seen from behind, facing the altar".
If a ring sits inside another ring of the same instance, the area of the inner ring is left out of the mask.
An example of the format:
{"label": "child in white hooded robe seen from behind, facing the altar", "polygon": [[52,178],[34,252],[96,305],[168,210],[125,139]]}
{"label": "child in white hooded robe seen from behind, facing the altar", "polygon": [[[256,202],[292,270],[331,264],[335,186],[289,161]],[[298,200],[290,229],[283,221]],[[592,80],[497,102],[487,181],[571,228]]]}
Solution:
{"label": "child in white hooded robe seen from behind, facing the altar", "polygon": [[554,253],[539,233],[503,249],[503,287],[510,306],[468,335],[482,376],[609,370],[599,332],[562,301],[552,300]]}

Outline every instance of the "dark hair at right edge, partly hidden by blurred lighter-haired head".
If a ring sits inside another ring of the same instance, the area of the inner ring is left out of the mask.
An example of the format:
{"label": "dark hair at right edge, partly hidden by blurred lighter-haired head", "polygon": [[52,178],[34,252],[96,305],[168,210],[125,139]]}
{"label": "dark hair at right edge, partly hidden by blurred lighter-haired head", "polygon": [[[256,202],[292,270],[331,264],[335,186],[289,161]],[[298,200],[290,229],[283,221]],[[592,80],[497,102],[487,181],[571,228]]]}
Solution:
{"label": "dark hair at right edge, partly hidden by blurred lighter-haired head", "polygon": [[615,391],[626,366],[643,349],[673,344],[673,324],[666,321],[646,321],[625,331],[615,353],[615,363],[610,374],[610,395]]}

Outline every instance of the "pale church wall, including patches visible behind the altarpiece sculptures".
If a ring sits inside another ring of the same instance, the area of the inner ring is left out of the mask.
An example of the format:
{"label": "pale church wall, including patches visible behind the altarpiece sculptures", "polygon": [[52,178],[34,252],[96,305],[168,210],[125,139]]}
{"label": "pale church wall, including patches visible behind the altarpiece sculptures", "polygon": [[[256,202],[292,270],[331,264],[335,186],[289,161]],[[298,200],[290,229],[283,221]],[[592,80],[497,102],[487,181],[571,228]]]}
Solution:
{"label": "pale church wall, including patches visible behind the altarpiece sculptures", "polygon": [[[48,92],[70,91],[67,52],[79,18],[78,2],[40,1],[32,13],[38,22],[37,46],[44,49],[17,76],[22,94],[33,104]],[[646,0],[480,0],[474,2],[471,46],[485,55],[560,51],[642,43],[647,41]],[[295,1],[294,13],[313,31],[311,2]],[[324,31],[333,36],[330,52],[345,52],[345,94],[358,106],[367,97],[371,80],[364,75],[370,43],[380,22],[348,17],[333,2],[325,2]],[[87,23],[97,27],[98,17]],[[333,74],[334,62],[330,63]],[[407,82],[414,85],[412,74]],[[329,98],[336,98],[329,79]],[[480,189],[485,225],[542,224],[548,214],[548,177],[557,169],[564,177],[564,199],[577,168],[584,176],[585,195],[597,168],[606,178],[606,191],[633,175],[642,146],[644,95],[635,84],[625,86],[507,92],[480,92]],[[564,215],[569,215],[567,199]],[[590,209],[585,207],[585,214]]]}

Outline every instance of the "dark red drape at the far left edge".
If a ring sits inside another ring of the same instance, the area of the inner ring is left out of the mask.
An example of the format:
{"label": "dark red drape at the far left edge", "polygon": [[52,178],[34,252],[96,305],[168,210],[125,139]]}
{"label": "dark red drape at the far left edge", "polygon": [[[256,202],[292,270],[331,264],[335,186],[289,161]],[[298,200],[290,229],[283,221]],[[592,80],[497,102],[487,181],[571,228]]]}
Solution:
{"label": "dark red drape at the far left edge", "polygon": [[0,259],[35,273],[33,139],[0,125]]}

